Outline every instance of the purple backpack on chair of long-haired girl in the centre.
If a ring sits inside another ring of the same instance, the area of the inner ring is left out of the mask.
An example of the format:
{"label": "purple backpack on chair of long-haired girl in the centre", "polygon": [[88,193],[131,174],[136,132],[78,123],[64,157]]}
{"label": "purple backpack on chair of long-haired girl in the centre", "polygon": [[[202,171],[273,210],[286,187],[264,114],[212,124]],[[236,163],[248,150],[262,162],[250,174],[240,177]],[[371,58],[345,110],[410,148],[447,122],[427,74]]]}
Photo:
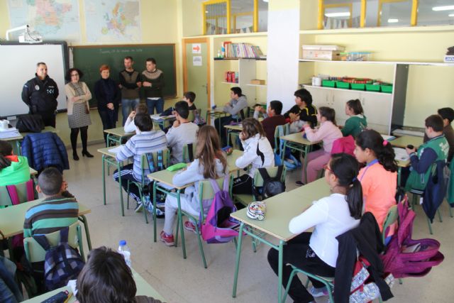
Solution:
{"label": "purple backpack on chair of long-haired girl in the centre", "polygon": [[[211,187],[214,190],[214,199],[202,202],[203,209],[209,207],[205,221],[201,224],[201,237],[206,243],[226,243],[238,236],[238,231],[234,230],[238,226],[238,221],[231,218],[230,214],[236,211],[236,206],[228,192],[229,175],[224,177],[223,189],[219,189],[216,180],[210,179]],[[211,205],[208,205],[211,203]],[[201,214],[199,216],[201,221]]]}

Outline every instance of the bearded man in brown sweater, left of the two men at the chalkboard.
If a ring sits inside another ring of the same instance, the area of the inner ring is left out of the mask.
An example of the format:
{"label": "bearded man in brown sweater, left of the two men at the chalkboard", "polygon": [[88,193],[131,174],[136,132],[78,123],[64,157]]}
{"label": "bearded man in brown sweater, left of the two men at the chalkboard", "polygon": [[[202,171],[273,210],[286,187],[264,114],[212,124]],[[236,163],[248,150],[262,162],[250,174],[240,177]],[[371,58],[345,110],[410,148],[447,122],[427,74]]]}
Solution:
{"label": "bearded man in brown sweater, left of the two men at the chalkboard", "polygon": [[142,86],[140,82],[140,73],[134,70],[133,57],[128,56],[123,60],[125,69],[120,72],[120,88],[121,88],[121,112],[123,113],[123,126],[131,111],[139,104],[139,89]]}

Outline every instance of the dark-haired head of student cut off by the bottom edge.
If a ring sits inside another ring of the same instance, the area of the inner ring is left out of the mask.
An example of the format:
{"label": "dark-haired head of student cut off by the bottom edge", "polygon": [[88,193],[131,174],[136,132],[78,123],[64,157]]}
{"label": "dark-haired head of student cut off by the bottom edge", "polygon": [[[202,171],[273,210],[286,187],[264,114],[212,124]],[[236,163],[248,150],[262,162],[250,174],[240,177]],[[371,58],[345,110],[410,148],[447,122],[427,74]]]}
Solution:
{"label": "dark-haired head of student cut off by the bottom edge", "polygon": [[136,296],[131,268],[123,255],[101,246],[90,251],[87,263],[77,277],[79,303],[161,303],[147,296]]}

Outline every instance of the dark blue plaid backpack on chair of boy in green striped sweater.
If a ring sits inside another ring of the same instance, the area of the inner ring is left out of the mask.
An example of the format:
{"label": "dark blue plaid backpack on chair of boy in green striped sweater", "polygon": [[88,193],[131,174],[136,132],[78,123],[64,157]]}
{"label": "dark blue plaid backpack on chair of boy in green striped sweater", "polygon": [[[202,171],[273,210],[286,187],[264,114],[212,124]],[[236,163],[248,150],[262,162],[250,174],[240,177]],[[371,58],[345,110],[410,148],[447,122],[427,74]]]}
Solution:
{"label": "dark blue plaid backpack on chair of boy in green striped sweater", "polygon": [[45,235],[33,236],[45,250],[44,282],[46,290],[56,290],[77,279],[85,263],[76,249],[68,244],[69,227],[60,229],[60,243],[50,247]]}

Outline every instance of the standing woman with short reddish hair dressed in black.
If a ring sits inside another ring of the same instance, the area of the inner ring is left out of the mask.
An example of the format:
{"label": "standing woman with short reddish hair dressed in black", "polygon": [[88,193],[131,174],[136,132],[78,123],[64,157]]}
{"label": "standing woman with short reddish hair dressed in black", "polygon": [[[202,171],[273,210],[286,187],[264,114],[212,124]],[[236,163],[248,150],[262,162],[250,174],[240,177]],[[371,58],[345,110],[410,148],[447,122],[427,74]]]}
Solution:
{"label": "standing woman with short reddish hair dressed in black", "polygon": [[[109,65],[101,65],[99,73],[101,79],[94,84],[94,97],[98,101],[98,112],[101,116],[102,129],[115,128],[118,120],[118,105],[121,99],[121,92],[117,84],[109,78],[111,69]],[[107,134],[104,133],[104,142],[107,141]]]}

